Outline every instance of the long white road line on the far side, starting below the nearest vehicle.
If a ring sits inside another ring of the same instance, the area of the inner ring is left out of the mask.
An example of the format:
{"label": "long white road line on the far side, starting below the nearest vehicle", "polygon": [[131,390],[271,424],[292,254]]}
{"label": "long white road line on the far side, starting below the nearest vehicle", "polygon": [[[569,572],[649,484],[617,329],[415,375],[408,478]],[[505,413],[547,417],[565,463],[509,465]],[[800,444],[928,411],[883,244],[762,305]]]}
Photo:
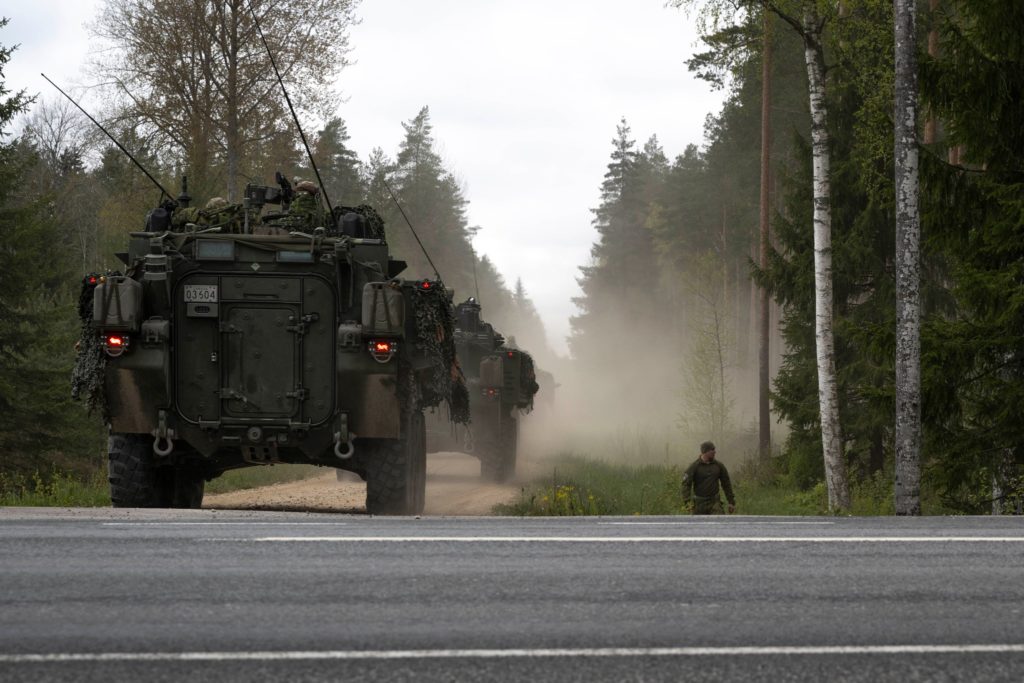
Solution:
{"label": "long white road line on the far side, starting below the nearest vehicle", "polygon": [[[216,539],[223,543],[224,539]],[[719,536],[268,536],[257,543],[1024,543],[1024,536],[719,537]]]}

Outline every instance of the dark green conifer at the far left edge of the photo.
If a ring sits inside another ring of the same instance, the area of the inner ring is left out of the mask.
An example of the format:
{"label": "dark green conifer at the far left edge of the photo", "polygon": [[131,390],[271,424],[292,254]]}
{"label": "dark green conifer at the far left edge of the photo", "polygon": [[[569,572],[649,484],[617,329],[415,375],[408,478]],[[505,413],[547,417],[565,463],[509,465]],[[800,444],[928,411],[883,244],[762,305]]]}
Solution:
{"label": "dark green conifer at the far left edge of the photo", "polygon": [[[31,102],[5,87],[12,52],[0,46],[0,471],[31,472],[60,454],[88,457],[97,430],[70,395],[74,244],[49,208],[53,196],[34,194],[27,181],[42,164],[38,152],[24,138],[4,141]],[[68,157],[54,161],[68,172],[78,168]]]}

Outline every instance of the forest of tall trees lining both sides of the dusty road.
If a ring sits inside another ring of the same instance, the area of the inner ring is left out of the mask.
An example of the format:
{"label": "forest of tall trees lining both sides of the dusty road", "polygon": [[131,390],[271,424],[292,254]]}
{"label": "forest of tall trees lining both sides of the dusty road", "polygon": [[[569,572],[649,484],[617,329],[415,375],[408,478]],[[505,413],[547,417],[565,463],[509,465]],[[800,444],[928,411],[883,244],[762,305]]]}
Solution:
{"label": "forest of tall trees lining both sides of the dusty road", "polygon": [[[96,26],[119,50],[93,67],[112,84],[97,115],[162,184],[177,188],[186,175],[200,206],[237,201],[276,170],[310,177],[284,101],[265,94],[274,84],[246,4],[199,6],[206,13],[103,3]],[[557,369],[560,400],[581,401],[574,418],[646,416],[680,441],[714,438],[800,488],[824,482],[834,512],[849,508],[858,482],[905,483],[914,468],[920,488],[910,484],[907,500],[1020,511],[1021,3],[669,2],[665,11],[699,24],[702,48],[688,67],[725,103],[705,139],[675,158],[628,116],[609,131],[569,358],[548,347],[529,283],[505,282],[474,252],[471,198],[437,150],[429,103],[411,104],[398,148],[359,159],[347,146],[345,121],[315,84],[346,65],[350,46],[337,36],[355,19],[353,3],[276,6],[279,20],[263,29],[303,117],[323,122],[310,145],[332,198],[377,207],[409,276],[431,275],[393,190],[445,282],[478,294],[488,321]],[[903,53],[894,8],[912,19]],[[0,472],[82,472],[102,467],[104,432],[70,396],[81,276],[118,267],[114,252],[158,193],[73,105],[4,87],[16,54],[0,30]],[[898,95],[915,108],[902,146]],[[898,182],[908,168],[912,205]],[[897,239],[910,219],[920,246]],[[901,337],[907,319],[920,319],[916,350]],[[920,369],[909,412],[904,367]],[[573,388],[582,377],[586,387]]]}

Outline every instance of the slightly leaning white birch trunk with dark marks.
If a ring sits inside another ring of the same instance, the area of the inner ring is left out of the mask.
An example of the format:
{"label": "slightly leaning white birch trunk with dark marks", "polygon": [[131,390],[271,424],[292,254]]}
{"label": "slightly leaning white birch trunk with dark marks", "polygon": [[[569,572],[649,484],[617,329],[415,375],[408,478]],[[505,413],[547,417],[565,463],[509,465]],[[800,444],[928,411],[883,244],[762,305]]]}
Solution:
{"label": "slightly leaning white birch trunk with dark marks", "polygon": [[821,23],[808,9],[803,20],[804,56],[811,108],[811,150],[814,169],[814,335],[818,366],[818,404],[821,412],[821,446],[828,488],[828,509],[850,507],[850,486],[839,420],[836,381],[836,344],[833,332],[831,188],[828,151],[825,67],[821,48]]}

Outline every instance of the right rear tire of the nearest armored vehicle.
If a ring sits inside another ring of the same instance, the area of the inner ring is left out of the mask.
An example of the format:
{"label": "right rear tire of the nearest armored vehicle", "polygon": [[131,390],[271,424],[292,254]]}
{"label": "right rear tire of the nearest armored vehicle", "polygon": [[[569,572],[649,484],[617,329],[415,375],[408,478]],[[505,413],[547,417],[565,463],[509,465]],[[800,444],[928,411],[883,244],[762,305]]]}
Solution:
{"label": "right rear tire of the nearest armored vehicle", "polygon": [[402,421],[398,439],[368,441],[360,454],[366,467],[367,512],[372,515],[418,515],[427,485],[427,439],[421,411]]}

